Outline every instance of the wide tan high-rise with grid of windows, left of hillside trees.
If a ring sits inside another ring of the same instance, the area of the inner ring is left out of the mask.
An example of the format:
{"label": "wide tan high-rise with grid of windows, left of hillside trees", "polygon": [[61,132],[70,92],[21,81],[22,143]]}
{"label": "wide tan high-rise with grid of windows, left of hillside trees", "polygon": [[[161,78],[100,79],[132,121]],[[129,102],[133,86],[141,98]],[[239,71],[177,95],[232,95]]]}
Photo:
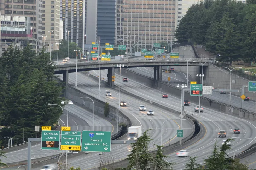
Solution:
{"label": "wide tan high-rise with grid of windows, left of hillside trees", "polygon": [[117,0],[116,44],[138,44],[140,49],[163,41],[170,44],[175,9],[175,0]]}

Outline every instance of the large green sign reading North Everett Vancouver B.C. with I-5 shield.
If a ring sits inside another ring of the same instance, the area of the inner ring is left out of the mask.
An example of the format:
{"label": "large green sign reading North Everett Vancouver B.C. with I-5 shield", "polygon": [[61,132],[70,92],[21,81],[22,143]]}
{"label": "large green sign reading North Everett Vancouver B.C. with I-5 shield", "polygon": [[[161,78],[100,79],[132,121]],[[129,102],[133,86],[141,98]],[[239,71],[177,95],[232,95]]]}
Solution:
{"label": "large green sign reading North Everett Vancouver B.C. with I-5 shield", "polygon": [[110,131],[82,131],[83,152],[110,152]]}

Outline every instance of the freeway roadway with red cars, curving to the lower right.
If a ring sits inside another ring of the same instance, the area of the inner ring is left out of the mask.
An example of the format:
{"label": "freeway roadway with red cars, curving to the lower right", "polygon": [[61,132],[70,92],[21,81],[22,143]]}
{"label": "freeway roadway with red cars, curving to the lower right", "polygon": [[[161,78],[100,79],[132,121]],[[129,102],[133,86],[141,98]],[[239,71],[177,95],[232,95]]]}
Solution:
{"label": "freeway roadway with red cars, curving to the lower right", "polygon": [[[99,74],[98,70],[94,71],[93,74],[97,76]],[[106,72],[102,71],[101,75],[101,77],[106,77]],[[118,85],[118,69],[116,70],[115,75],[115,83],[116,85]],[[121,76],[121,78],[123,78],[123,76]],[[163,99],[161,95],[164,94],[164,92],[152,89],[145,84],[141,84],[139,82],[129,79],[128,82],[121,83],[121,88],[127,90],[130,93],[141,95],[153,102],[161,103],[162,105],[168,106],[170,108],[180,110],[180,99],[170,96],[168,93],[167,94],[169,95],[169,98]],[[222,140],[227,139],[228,137],[231,138],[232,136],[254,139],[256,138],[255,121],[234,117],[221,112],[216,112],[209,108],[204,108],[204,112],[199,114],[194,112],[194,106],[194,103],[191,103],[191,106],[185,106],[186,113],[193,113],[194,117],[200,120],[202,125],[205,126],[207,130],[205,136],[202,139],[186,148],[188,152],[190,152],[190,156],[198,156],[198,163],[203,163],[203,159],[206,158],[206,156],[210,156],[211,152],[213,151],[215,141],[217,142],[217,145],[220,146]],[[233,134],[233,129],[235,127],[239,127],[241,129],[240,134]],[[226,130],[227,137],[218,138],[217,133],[219,132],[219,130]],[[232,141],[231,147],[235,150],[235,153],[239,153],[250,147],[253,143],[254,141],[249,139],[235,139],[234,141]],[[232,154],[233,152],[230,151],[229,155],[232,156]],[[169,156],[170,158],[168,159],[168,161],[178,162],[178,164],[175,166],[175,169],[183,169],[185,167],[185,164],[188,162],[188,158],[177,158],[176,152],[170,154]]]}

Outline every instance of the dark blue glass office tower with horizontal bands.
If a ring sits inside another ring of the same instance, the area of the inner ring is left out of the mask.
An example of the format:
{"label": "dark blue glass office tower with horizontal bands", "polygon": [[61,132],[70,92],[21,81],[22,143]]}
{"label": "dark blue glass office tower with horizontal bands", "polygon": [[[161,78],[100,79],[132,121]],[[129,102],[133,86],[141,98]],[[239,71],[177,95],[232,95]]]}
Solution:
{"label": "dark blue glass office tower with horizontal bands", "polygon": [[98,0],[97,36],[100,37],[101,44],[115,44],[116,2],[117,0]]}

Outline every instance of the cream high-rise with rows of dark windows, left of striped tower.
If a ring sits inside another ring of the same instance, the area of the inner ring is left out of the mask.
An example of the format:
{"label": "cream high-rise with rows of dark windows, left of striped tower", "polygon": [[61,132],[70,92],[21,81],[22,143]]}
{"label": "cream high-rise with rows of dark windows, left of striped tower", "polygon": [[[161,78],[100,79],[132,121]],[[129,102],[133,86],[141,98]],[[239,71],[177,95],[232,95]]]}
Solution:
{"label": "cream high-rise with rows of dark windows, left of striped tower", "polygon": [[60,40],[60,0],[43,0],[42,34],[46,51],[57,50]]}

